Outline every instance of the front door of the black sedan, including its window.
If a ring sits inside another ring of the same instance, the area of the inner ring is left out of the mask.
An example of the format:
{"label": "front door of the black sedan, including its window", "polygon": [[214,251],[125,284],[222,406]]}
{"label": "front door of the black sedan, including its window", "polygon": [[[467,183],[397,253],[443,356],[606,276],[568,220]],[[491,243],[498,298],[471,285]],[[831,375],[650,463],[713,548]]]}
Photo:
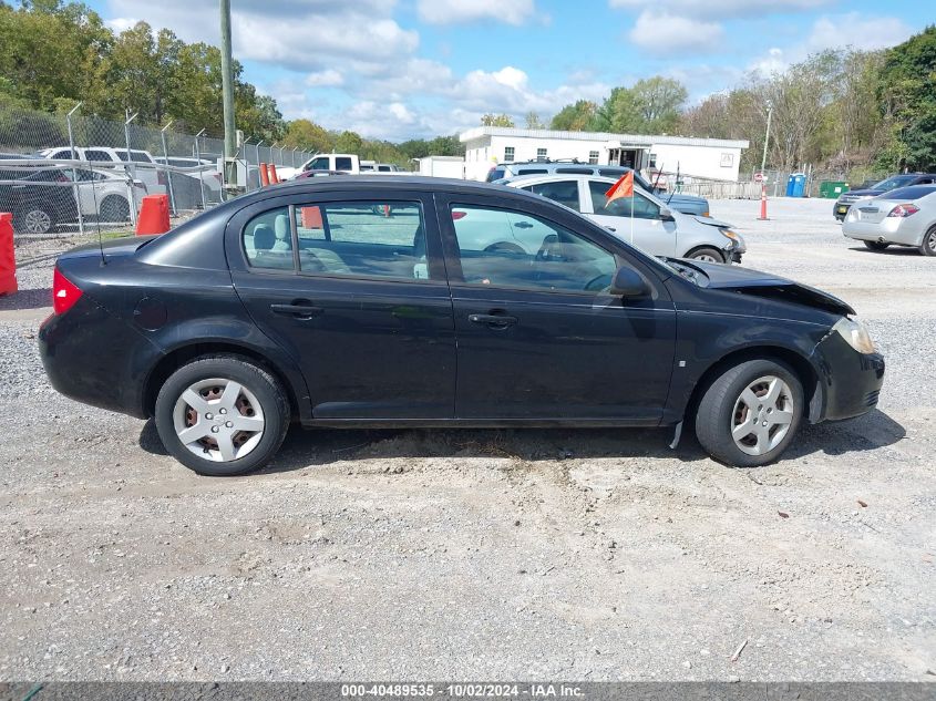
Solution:
{"label": "front door of the black sedan, including its window", "polygon": [[[538,214],[535,202],[497,206],[490,197],[440,195],[436,203],[457,337],[456,416],[656,425],[676,334],[659,279],[552,207],[570,220]],[[548,234],[535,254],[479,249],[462,223],[488,212]],[[647,280],[646,298],[608,292],[620,265]]]}

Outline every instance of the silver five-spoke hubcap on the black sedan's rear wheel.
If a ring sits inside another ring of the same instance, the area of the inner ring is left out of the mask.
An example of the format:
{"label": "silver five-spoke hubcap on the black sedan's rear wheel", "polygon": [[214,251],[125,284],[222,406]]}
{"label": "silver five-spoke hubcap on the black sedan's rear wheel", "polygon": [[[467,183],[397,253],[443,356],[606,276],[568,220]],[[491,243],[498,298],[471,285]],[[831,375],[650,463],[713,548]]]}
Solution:
{"label": "silver five-spoke hubcap on the black sedan's rear wheel", "polygon": [[176,400],[173,425],[182,444],[198,457],[230,462],[257,447],[266,422],[250,390],[212,378],[191,384]]}

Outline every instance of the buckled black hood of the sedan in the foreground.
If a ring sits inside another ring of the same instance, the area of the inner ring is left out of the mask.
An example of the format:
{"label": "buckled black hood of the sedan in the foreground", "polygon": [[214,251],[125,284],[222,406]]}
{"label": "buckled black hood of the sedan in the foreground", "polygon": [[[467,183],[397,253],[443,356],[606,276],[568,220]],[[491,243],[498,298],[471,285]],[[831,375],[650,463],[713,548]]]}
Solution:
{"label": "buckled black hood of the sedan in the foreground", "polygon": [[680,260],[679,262],[701,270],[708,277],[709,289],[734,290],[740,295],[803,305],[836,315],[855,313],[850,305],[834,295],[770,272],[699,260]]}

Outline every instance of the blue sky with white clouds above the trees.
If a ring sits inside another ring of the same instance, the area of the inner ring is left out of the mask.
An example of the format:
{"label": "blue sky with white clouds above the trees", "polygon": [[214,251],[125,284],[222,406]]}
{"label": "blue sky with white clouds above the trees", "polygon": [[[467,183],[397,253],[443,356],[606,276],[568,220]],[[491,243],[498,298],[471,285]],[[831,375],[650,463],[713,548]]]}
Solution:
{"label": "blue sky with white clouds above the trees", "polygon": [[[217,0],[91,0],[218,42]],[[403,141],[524,124],[665,75],[690,103],[823,49],[881,49],[936,23],[936,0],[232,0],[234,55],[288,120]]]}

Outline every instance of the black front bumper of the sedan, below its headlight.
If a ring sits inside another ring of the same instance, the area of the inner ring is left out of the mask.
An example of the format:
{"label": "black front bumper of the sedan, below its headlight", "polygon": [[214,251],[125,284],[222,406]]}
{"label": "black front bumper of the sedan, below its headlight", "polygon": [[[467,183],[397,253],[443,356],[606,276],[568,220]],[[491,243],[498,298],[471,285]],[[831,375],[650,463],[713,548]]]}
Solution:
{"label": "black front bumper of the sedan, below its headlight", "polygon": [[860,353],[837,333],[830,333],[815,349],[821,392],[813,399],[810,419],[841,421],[861,416],[877,405],[884,384],[884,357]]}

